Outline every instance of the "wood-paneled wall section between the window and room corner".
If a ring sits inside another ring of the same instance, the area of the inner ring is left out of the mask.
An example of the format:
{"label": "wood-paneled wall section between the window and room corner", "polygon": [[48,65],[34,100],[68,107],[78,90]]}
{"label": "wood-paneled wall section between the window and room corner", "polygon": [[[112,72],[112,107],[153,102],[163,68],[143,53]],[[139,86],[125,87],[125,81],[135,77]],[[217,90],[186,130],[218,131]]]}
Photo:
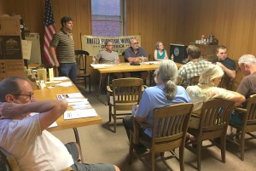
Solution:
{"label": "wood-paneled wall section between the window and room corner", "polygon": [[162,42],[170,52],[170,43],[183,43],[184,0],[126,0],[127,35],[142,36],[142,47],[154,53]]}

